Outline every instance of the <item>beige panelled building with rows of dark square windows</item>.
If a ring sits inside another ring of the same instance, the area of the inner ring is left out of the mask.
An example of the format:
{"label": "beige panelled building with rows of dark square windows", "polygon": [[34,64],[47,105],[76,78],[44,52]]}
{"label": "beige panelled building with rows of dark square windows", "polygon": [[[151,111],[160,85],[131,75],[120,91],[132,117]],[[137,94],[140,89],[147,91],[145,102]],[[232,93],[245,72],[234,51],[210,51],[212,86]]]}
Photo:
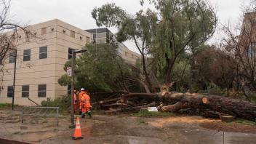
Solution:
{"label": "beige panelled building with rows of dark square windows", "polygon": [[[71,58],[73,49],[81,49],[85,44],[93,41],[93,33],[57,19],[31,25],[28,28],[37,38],[28,41],[24,33],[19,33],[15,84],[17,105],[34,105],[31,100],[40,104],[47,98],[52,99],[67,94],[68,88],[60,86],[57,82],[65,73],[63,66]],[[140,57],[125,46],[120,52],[124,59],[131,63],[135,63]],[[10,54],[3,62],[5,64],[4,76],[1,75],[3,81],[1,81],[0,103],[12,103],[14,61],[14,57]],[[28,97],[31,100],[28,100]]]}

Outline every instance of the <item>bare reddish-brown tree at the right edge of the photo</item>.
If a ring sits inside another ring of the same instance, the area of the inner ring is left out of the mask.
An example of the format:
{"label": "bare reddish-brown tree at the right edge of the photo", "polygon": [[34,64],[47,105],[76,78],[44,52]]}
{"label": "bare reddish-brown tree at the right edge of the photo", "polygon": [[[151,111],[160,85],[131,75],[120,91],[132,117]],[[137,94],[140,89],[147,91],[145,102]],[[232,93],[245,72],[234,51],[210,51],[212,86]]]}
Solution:
{"label": "bare reddish-brown tree at the right edge of the photo", "polygon": [[[253,6],[253,5],[252,5]],[[239,36],[236,34],[231,25],[223,26],[223,31],[226,34],[223,39],[223,47],[227,52],[232,54],[235,59],[234,66],[236,67],[236,84],[237,90],[243,90],[247,100],[250,97],[245,91],[255,92],[256,90],[256,12],[255,8],[245,8],[244,20],[239,31]]]}

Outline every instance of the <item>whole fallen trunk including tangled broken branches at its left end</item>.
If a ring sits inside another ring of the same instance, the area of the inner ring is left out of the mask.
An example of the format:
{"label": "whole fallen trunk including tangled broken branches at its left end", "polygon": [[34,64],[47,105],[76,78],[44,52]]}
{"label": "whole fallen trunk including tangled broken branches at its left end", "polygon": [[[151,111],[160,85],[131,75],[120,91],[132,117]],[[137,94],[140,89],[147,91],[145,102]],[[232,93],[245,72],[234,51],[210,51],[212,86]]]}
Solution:
{"label": "whole fallen trunk including tangled broken branches at its left end", "polygon": [[217,95],[178,92],[166,92],[164,94],[129,93],[121,95],[119,100],[116,99],[116,103],[111,102],[111,104],[103,105],[105,108],[110,108],[106,113],[140,111],[141,108],[157,106],[159,111],[178,112],[186,108],[192,108],[193,110],[199,110],[202,116],[231,115],[252,121],[255,121],[256,118],[256,105],[254,103]]}

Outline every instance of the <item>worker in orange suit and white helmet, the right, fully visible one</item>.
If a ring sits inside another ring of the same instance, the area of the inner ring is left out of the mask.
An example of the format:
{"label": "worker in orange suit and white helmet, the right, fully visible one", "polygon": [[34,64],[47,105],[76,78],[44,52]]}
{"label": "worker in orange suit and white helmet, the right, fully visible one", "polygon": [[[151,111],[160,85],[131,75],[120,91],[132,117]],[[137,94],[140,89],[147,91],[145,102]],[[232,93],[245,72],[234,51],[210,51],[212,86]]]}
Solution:
{"label": "worker in orange suit and white helmet, the right, fully visible one", "polygon": [[85,92],[84,89],[81,89],[80,108],[81,108],[81,117],[82,118],[84,118],[86,113],[89,115],[89,117],[92,117],[92,114],[91,114],[92,105],[90,103],[90,97],[89,97],[89,95],[87,95],[87,92]]}

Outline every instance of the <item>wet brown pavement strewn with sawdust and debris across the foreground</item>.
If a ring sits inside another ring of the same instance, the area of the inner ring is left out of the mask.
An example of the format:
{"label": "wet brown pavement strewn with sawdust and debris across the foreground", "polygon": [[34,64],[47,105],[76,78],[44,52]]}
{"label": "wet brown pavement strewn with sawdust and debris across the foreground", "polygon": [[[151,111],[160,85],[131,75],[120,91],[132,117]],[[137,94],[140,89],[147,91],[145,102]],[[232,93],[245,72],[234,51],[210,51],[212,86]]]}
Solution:
{"label": "wet brown pavement strewn with sawdust and debris across the foreground", "polygon": [[69,118],[60,117],[60,126],[55,119],[27,119],[21,125],[11,116],[0,116],[0,137],[23,140],[31,143],[100,143],[100,144],[156,144],[156,143],[207,143],[207,144],[255,144],[256,135],[236,132],[217,132],[199,126],[202,122],[216,121],[199,116],[175,116],[169,118],[137,118],[131,116],[93,116],[81,119],[82,140],[71,140]]}

